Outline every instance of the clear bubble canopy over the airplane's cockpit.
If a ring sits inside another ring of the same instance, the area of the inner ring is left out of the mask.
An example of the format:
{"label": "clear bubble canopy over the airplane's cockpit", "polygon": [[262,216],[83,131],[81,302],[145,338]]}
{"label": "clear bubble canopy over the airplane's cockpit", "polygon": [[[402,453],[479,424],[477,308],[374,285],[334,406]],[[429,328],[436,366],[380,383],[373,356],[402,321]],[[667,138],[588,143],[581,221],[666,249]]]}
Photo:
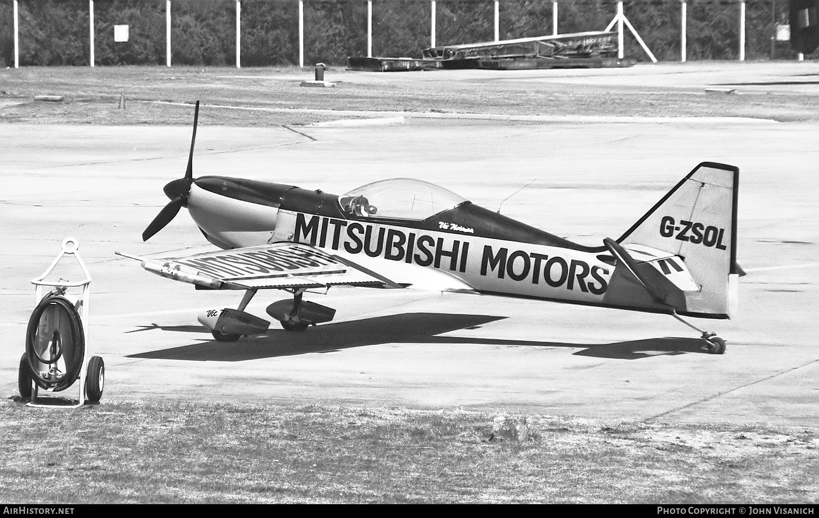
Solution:
{"label": "clear bubble canopy over the airplane's cockpit", "polygon": [[348,216],[425,220],[467,199],[420,179],[382,179],[338,197]]}

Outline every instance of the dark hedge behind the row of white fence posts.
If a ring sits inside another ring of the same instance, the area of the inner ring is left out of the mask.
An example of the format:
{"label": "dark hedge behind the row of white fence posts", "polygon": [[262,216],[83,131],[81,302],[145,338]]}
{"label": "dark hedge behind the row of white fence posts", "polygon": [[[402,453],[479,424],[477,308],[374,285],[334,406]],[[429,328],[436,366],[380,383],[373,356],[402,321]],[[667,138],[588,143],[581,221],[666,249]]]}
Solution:
{"label": "dark hedge behind the row of white fence posts", "polygon": [[[774,0],[746,4],[747,59],[771,55]],[[88,65],[88,2],[20,0],[20,65]],[[626,16],[659,60],[680,58],[680,3],[677,0],[624,2]],[[776,19],[785,22],[787,2],[776,2]],[[561,0],[559,32],[603,30],[616,2]],[[690,60],[736,59],[739,13],[735,2],[688,3]],[[165,63],[165,2],[94,2],[97,65]],[[373,55],[419,57],[429,46],[430,3],[426,0],[373,2]],[[0,0],[0,66],[13,64],[11,0]],[[129,41],[114,42],[114,25],[129,25]],[[177,65],[233,65],[236,52],[233,0],[174,0],[171,7],[172,61]],[[437,2],[437,44],[494,38],[494,2]],[[500,38],[551,34],[551,0],[502,0]],[[305,1],[305,63],[341,65],[367,52],[367,2]],[[636,39],[626,36],[626,55],[648,61]],[[787,42],[776,43],[777,58],[793,58]],[[298,3],[293,0],[242,2],[242,65],[298,63]]]}

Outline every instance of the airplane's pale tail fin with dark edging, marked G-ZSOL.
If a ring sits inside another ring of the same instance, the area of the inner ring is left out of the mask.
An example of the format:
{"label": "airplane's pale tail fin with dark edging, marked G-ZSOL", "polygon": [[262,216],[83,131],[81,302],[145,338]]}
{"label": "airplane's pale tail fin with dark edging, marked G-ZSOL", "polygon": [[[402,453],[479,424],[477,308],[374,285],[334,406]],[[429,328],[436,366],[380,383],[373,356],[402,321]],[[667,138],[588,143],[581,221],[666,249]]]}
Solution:
{"label": "airplane's pale tail fin with dark edging, marked G-ZSOL", "polygon": [[[617,240],[637,252],[639,262],[656,262],[655,269],[676,284],[685,297],[673,305],[681,315],[729,318],[735,306],[739,182],[739,168],[703,162]],[[640,261],[640,250],[652,251],[654,257]],[[667,258],[657,259],[658,252],[680,257],[693,283],[670,276],[669,271],[681,270],[669,268],[675,264]]]}

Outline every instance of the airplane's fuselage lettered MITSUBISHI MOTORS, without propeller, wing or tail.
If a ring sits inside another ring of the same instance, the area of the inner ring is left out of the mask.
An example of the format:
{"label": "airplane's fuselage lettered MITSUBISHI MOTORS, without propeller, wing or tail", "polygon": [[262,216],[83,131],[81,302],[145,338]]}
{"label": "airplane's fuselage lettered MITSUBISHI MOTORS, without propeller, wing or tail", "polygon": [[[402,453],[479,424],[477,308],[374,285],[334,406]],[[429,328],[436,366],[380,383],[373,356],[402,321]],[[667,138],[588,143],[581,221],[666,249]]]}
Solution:
{"label": "airplane's fuselage lettered MITSUBISHI MOTORS, without propeller, wing or tail", "polygon": [[[407,184],[414,180],[401,181],[405,184],[398,187],[414,186]],[[419,186],[435,188],[426,183]],[[374,195],[385,198],[383,192],[389,194],[391,185],[378,187],[381,190]],[[441,192],[422,194],[440,199],[449,193]],[[424,202],[413,196],[413,207]],[[374,205],[353,209],[351,200],[362,197],[353,198],[286,184],[206,176],[192,184],[188,211],[210,243],[220,248],[309,243],[397,284],[622,306],[609,293],[615,268],[604,247],[572,243],[466,200],[455,199],[450,202],[455,206],[420,217],[409,206],[392,214],[388,207]],[[441,204],[432,207],[437,210]],[[650,300],[638,303],[644,311],[664,311]],[[634,307],[634,300],[628,306]]]}

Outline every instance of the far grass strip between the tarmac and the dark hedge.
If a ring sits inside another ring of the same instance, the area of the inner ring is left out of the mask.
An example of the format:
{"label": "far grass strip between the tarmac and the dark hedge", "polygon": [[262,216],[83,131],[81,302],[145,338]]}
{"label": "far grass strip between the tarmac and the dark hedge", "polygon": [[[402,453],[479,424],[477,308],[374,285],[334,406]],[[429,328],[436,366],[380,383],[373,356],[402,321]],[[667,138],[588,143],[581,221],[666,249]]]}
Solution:
{"label": "far grass strip between the tarmac and the dark hedge", "polygon": [[[179,66],[27,67],[0,70],[0,121],[44,124],[190,124],[190,109],[151,101],[319,110],[430,111],[500,115],[741,116],[819,120],[819,98],[790,93],[709,95],[692,87],[652,88],[549,80],[549,74],[461,74],[459,70],[370,73],[331,70],[332,89],[301,88],[309,70]],[[546,75],[545,80],[539,79]],[[328,77],[330,77],[328,76]],[[564,78],[565,79],[565,78]],[[650,90],[650,91],[647,91]],[[63,102],[34,96],[63,96]],[[120,95],[125,108],[120,109]],[[142,102],[140,102],[142,101]],[[303,125],[333,115],[209,109],[203,125]]]}

